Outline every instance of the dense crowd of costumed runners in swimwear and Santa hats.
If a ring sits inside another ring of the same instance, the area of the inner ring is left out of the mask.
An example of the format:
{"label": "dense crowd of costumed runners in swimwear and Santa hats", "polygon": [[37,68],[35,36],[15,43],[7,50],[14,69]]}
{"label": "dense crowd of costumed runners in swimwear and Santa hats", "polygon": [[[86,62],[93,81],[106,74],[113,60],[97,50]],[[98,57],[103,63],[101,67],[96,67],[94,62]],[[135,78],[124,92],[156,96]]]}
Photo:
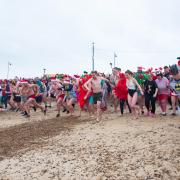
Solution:
{"label": "dense crowd of costumed runners in swimwear and Santa hats", "polygon": [[[44,115],[56,103],[56,117],[61,113],[73,115],[82,111],[102,119],[110,105],[123,116],[127,109],[137,119],[141,114],[156,117],[156,106],[161,115],[170,111],[176,116],[180,109],[180,58],[177,64],[164,68],[138,67],[137,72],[122,72],[114,67],[112,74],[97,71],[78,75],[56,75],[35,79],[0,80],[0,111],[13,110],[30,118],[38,108]],[[169,108],[168,108],[169,105]]]}

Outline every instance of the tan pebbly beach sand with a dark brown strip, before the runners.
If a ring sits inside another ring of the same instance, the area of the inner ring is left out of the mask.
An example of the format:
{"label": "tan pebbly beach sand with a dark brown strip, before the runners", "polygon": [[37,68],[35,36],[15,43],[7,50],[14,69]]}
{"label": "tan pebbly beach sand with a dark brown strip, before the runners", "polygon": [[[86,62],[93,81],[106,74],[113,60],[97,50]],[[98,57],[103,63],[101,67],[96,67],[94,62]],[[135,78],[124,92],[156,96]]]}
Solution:
{"label": "tan pebbly beach sand with a dark brown strip, before the runners", "polygon": [[0,179],[180,179],[180,117],[0,113]]}

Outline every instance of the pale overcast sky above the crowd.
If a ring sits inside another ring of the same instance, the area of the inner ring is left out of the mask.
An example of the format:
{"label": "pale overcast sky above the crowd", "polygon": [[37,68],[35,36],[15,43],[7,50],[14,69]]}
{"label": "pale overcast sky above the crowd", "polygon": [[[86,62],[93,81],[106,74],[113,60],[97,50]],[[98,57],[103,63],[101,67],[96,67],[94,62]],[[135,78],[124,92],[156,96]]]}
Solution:
{"label": "pale overcast sky above the crowd", "polygon": [[160,67],[180,56],[180,0],[0,0],[0,78]]}

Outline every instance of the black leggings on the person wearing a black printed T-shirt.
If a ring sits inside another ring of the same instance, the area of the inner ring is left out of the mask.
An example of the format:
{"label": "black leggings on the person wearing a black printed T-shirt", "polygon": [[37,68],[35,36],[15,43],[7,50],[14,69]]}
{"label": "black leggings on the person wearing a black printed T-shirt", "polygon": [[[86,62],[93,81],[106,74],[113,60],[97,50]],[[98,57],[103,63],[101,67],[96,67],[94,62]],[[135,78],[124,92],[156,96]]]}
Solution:
{"label": "black leggings on the person wearing a black printed T-shirt", "polygon": [[150,110],[151,105],[151,113],[155,114],[156,111],[156,98],[153,95],[145,94],[145,106],[147,110]]}

